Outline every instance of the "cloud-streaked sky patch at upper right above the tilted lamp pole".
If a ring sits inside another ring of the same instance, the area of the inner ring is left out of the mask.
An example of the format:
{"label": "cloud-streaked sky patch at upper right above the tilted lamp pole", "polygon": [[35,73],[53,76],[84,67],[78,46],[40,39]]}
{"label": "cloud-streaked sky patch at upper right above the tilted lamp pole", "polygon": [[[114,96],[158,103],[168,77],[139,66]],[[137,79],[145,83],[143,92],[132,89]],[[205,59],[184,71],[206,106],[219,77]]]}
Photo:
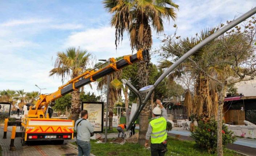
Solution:
{"label": "cloud-streaked sky patch at upper right above the tilted lamp pole", "polygon": [[177,20],[166,23],[165,33],[174,32],[173,25],[177,24],[177,34],[189,37],[202,29],[217,26],[220,22],[232,20],[239,13],[245,13],[256,6],[255,0],[175,0],[179,5]]}

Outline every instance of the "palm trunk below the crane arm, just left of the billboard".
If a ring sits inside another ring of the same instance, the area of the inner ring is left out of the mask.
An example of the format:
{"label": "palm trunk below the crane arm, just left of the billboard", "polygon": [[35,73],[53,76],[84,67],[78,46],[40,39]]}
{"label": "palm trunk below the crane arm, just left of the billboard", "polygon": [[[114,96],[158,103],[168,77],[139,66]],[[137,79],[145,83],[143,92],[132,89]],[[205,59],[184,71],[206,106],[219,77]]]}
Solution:
{"label": "palm trunk below the crane arm, just left of the billboard", "polygon": [[79,114],[81,112],[80,109],[80,92],[79,90],[74,90],[72,92],[72,105],[71,105],[71,119],[75,120],[75,122],[79,118]]}

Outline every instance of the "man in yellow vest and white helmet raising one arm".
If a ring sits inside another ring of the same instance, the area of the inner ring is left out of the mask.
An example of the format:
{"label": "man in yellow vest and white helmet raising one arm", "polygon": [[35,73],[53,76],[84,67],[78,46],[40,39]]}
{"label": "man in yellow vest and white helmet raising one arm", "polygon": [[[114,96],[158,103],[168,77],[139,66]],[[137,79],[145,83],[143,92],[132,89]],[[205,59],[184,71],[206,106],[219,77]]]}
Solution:
{"label": "man in yellow vest and white helmet raising one arm", "polygon": [[160,100],[157,99],[156,103],[161,109],[158,106],[153,109],[153,120],[149,122],[148,131],[146,132],[145,147],[148,147],[148,140],[151,137],[151,156],[164,156],[167,151],[167,111]]}

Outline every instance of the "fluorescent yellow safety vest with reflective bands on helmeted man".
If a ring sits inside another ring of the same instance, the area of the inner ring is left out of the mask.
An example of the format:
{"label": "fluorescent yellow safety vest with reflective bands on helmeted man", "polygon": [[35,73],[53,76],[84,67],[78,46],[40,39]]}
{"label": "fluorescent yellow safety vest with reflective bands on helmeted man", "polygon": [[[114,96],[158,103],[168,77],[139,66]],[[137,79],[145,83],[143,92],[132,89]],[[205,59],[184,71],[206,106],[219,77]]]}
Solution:
{"label": "fluorescent yellow safety vest with reflective bands on helmeted man", "polygon": [[150,121],[152,126],[151,143],[160,144],[167,139],[166,120],[164,117],[153,119]]}

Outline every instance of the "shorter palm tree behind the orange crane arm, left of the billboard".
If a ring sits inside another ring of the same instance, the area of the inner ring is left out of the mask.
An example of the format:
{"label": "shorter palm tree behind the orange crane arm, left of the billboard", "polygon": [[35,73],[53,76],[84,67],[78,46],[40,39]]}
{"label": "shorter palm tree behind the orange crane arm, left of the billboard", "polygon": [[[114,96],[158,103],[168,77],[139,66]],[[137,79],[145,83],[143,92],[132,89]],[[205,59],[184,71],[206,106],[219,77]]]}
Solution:
{"label": "shorter palm tree behind the orange crane arm, left of the billboard", "polygon": [[[64,52],[57,53],[54,68],[50,71],[50,76],[61,76],[62,83],[66,78],[74,78],[83,73],[90,61],[91,54],[87,50],[76,49],[69,47]],[[79,118],[80,110],[80,91],[74,90],[72,92],[72,106],[71,106],[71,119],[77,120]]]}

